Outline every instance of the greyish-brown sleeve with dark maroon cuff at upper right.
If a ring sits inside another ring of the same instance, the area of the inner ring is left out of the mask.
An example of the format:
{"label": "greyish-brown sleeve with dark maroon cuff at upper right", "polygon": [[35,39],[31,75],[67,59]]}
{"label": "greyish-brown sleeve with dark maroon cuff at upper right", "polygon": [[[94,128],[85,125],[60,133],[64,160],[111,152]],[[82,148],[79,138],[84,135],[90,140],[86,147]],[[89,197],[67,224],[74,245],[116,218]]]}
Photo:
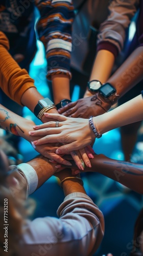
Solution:
{"label": "greyish-brown sleeve with dark maroon cuff at upper right", "polygon": [[[114,0],[109,5],[109,16],[100,26],[98,50],[110,50],[114,55],[121,52],[126,28],[130,25],[139,6],[139,0]],[[112,45],[112,48],[111,48]]]}

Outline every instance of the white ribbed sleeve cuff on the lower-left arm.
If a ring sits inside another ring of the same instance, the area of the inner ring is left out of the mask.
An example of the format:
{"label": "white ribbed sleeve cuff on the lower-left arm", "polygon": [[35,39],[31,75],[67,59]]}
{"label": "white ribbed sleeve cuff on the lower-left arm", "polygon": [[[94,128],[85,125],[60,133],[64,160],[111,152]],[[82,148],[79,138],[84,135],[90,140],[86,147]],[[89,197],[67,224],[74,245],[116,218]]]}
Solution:
{"label": "white ribbed sleeve cuff on the lower-left arm", "polygon": [[21,163],[17,168],[25,175],[27,179],[27,194],[31,195],[38,186],[38,176],[35,169],[28,163]]}

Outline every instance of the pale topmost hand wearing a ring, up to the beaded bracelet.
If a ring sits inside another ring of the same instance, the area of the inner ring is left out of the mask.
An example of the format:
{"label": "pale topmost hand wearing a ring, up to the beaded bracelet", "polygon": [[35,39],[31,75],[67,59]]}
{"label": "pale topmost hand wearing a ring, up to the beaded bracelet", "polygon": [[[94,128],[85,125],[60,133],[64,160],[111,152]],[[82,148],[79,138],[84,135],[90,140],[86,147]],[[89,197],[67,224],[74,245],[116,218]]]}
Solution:
{"label": "pale topmost hand wearing a ring, up to the beaded bracelet", "polygon": [[63,115],[47,113],[45,113],[45,116],[58,120],[59,126],[55,127],[55,121],[34,126],[36,131],[29,132],[29,134],[31,136],[42,136],[38,140],[33,139],[35,146],[58,141],[66,145],[60,146],[56,153],[69,154],[71,151],[80,150],[90,145],[95,138],[88,119],[69,118]]}

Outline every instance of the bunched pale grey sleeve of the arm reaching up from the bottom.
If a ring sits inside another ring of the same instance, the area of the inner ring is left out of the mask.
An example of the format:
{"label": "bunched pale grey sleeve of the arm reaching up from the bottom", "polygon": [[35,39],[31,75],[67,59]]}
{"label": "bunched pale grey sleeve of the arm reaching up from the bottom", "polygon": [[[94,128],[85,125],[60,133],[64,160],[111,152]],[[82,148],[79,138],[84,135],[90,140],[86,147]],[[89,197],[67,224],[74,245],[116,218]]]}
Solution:
{"label": "bunched pale grey sleeve of the arm reaching up from the bottom", "polygon": [[59,206],[58,215],[59,219],[45,217],[28,223],[22,245],[25,253],[93,255],[104,235],[104,217],[97,205],[85,194],[73,193]]}

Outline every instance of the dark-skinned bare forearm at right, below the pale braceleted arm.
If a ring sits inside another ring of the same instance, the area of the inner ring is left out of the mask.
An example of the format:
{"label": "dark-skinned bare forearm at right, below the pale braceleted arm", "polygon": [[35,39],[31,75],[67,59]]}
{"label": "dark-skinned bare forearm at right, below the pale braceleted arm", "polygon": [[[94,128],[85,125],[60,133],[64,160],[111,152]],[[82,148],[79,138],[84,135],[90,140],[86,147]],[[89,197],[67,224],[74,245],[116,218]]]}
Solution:
{"label": "dark-skinned bare forearm at right, below the pale braceleted arm", "polygon": [[[91,159],[92,172],[98,172],[143,194],[143,165],[110,159],[104,155],[94,155]],[[85,171],[87,167],[85,167]],[[88,168],[89,170],[89,168]],[[90,171],[89,170],[89,171]]]}

